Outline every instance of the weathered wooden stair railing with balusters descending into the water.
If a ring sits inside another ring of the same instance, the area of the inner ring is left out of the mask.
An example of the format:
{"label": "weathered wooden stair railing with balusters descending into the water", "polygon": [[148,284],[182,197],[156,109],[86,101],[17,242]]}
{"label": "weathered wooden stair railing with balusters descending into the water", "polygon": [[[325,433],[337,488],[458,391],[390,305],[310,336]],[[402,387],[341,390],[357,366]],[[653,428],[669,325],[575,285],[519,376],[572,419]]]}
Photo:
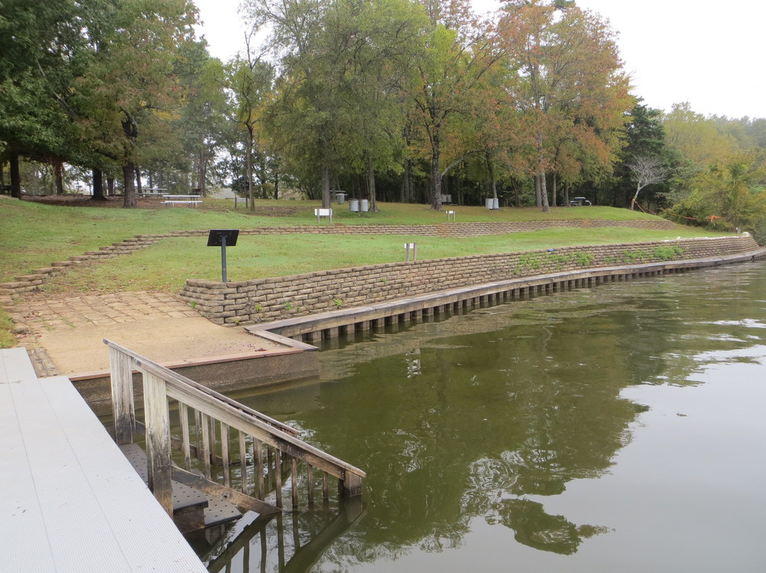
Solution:
{"label": "weathered wooden stair railing with balusters descending into the water", "polygon": [[[366,476],[364,471],[306,444],[297,437],[299,431],[295,428],[212,391],[115,342],[107,339],[103,342],[110,348],[115,439],[118,444],[132,442],[133,433],[138,427],[143,427],[146,433],[149,489],[170,514],[172,480],[195,486],[221,499],[228,499],[245,509],[260,513],[278,511],[282,507],[285,471],[289,473],[289,478],[285,479],[290,479],[295,508],[298,506],[299,462],[306,464],[309,504],[313,502],[315,468],[323,472],[322,494],[325,499],[328,496],[328,475],[339,480],[339,494],[357,496],[362,493],[362,479]],[[133,404],[134,370],[139,372],[143,381],[143,424],[136,421],[136,408]],[[182,433],[180,438],[171,435],[169,401],[178,402],[178,421]],[[192,412],[194,415],[190,421]],[[197,434],[196,446],[191,445],[192,426]],[[232,430],[234,435],[231,434]],[[239,443],[239,456],[234,460],[230,452],[232,440]],[[252,447],[250,457],[247,455],[247,444]],[[172,463],[171,448],[174,446],[180,447],[184,454],[185,469],[175,467]],[[204,463],[204,476],[191,471],[192,457]],[[212,479],[212,465],[223,467],[223,484]],[[239,491],[231,488],[231,467],[240,468]],[[252,496],[247,493],[250,487],[247,483],[248,467],[252,469]],[[267,491],[264,470],[276,493],[275,505],[264,500]]]}

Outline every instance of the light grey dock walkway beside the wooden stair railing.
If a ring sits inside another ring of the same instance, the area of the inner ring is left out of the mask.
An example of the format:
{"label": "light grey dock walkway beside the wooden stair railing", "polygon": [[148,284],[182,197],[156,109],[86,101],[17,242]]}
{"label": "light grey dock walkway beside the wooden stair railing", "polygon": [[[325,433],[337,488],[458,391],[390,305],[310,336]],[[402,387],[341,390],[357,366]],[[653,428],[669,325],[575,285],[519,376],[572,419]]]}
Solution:
{"label": "light grey dock walkway beside the wooden stair railing", "polygon": [[207,571],[70,380],[0,349],[0,571]]}

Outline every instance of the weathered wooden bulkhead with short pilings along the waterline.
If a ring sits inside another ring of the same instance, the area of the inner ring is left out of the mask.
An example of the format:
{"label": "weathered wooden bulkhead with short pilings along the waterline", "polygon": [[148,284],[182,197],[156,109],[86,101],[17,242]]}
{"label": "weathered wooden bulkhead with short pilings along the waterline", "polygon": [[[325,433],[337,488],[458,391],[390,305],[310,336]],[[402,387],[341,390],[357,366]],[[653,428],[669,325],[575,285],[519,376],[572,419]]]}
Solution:
{"label": "weathered wooden bulkhead with short pilings along the waterline", "polygon": [[313,345],[322,339],[332,340],[341,333],[366,332],[385,325],[406,325],[412,320],[429,319],[434,315],[457,313],[471,308],[514,300],[526,300],[541,294],[591,288],[604,283],[624,282],[642,277],[683,273],[686,270],[755,260],[755,258],[762,257],[766,257],[766,249],[696,260],[568,270],[537,277],[523,277],[476,286],[464,286],[459,289],[411,296],[406,299],[374,305],[299,316],[273,323],[247,326],[246,329],[257,334],[257,336],[264,336],[268,333],[271,336],[283,336],[303,342],[306,345]]}

